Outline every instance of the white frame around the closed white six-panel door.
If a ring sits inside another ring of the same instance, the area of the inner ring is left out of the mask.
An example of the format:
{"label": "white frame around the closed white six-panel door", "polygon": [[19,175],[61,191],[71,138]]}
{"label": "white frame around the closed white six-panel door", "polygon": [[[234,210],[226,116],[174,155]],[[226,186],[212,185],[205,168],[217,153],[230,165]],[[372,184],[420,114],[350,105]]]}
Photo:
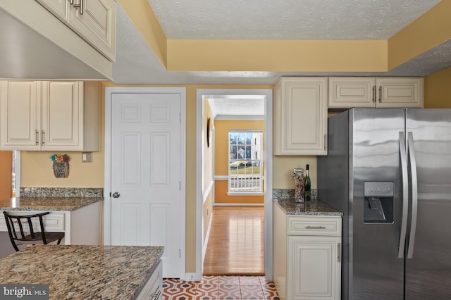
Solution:
{"label": "white frame around the closed white six-panel door", "polygon": [[180,94],[180,278],[185,275],[186,88],[105,87],[104,245],[111,245],[111,107],[112,94]]}

